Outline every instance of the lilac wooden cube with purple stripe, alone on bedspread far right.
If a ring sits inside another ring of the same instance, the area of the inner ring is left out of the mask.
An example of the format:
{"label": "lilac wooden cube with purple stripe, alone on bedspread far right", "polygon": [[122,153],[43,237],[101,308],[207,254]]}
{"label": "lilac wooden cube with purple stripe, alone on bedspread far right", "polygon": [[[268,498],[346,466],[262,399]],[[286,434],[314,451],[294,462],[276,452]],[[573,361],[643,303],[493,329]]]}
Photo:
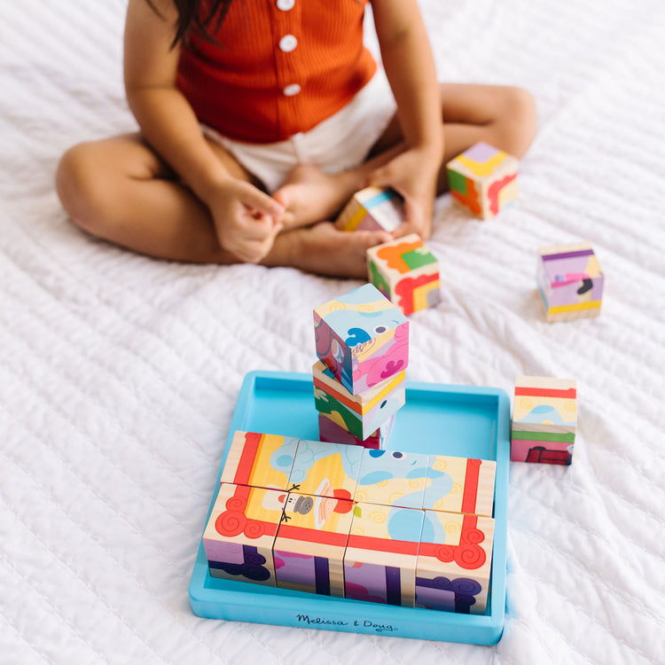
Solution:
{"label": "lilac wooden cube with purple stripe, alone on bedspread far right", "polygon": [[590,242],[541,247],[536,279],[548,321],[600,314],[605,277]]}

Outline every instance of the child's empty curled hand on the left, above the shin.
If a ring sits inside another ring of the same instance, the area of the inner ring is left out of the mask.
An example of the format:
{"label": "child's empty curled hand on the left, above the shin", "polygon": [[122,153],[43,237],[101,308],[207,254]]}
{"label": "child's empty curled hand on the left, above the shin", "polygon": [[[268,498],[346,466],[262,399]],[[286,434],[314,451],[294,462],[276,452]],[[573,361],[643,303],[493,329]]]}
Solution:
{"label": "child's empty curled hand on the left, above the shin", "polygon": [[285,213],[278,201],[253,184],[228,180],[215,186],[205,202],[224,249],[248,263],[258,263],[270,252]]}

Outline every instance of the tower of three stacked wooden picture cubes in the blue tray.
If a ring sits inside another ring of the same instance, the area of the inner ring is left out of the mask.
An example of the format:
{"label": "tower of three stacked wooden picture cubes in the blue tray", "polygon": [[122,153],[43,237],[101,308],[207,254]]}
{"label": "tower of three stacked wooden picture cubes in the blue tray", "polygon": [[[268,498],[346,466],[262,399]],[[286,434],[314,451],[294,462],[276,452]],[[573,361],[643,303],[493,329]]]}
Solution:
{"label": "tower of three stacked wooden picture cubes in the blue tray", "polygon": [[382,448],[406,399],[409,321],[371,284],[314,309],[321,441]]}

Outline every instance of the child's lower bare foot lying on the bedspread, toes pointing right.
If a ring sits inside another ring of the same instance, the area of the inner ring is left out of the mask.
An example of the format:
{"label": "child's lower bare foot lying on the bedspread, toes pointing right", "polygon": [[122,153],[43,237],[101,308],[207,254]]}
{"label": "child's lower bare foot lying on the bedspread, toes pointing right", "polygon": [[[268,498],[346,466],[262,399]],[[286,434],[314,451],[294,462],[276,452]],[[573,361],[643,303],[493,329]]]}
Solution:
{"label": "child's lower bare foot lying on the bedspread, toes pointing right", "polygon": [[264,265],[293,266],[319,275],[367,278],[366,251],[391,240],[386,231],[339,231],[331,222],[280,233]]}

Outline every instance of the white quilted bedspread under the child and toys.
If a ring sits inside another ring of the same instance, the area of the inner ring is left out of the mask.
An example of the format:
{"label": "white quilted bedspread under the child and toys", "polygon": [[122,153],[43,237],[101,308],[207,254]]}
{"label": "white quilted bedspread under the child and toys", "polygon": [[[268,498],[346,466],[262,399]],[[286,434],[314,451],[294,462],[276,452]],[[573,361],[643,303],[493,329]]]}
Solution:
{"label": "white quilted bedspread under the child and toys", "polygon": [[[246,372],[309,372],[311,310],[358,282],[156,262],[75,229],[53,175],[133,130],[121,0],[0,4],[0,661],[665,661],[665,5],[421,0],[442,80],[517,84],[520,203],[439,201],[443,301],[408,379],[573,377],[569,467],[512,464],[505,632],[475,646],[217,622],[187,589]],[[372,35],[370,41],[373,44]],[[597,319],[544,323],[539,246],[590,239]]]}

